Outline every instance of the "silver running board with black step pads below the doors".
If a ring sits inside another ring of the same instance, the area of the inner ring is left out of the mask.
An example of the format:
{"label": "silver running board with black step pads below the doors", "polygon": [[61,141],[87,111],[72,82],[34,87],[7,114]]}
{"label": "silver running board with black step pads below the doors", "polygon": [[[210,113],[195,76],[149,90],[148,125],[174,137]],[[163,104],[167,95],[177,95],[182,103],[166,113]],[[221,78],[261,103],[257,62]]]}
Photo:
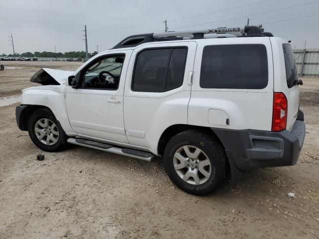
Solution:
{"label": "silver running board with black step pads below the doors", "polygon": [[76,145],[80,145],[80,146],[84,146],[88,148],[94,148],[94,149],[102,150],[105,152],[116,153],[123,156],[145,160],[148,162],[151,162],[155,157],[155,155],[150,152],[146,152],[146,151],[142,151],[138,149],[132,149],[132,148],[120,148],[112,144],[97,142],[97,141],[84,139],[84,138],[68,138],[68,143],[72,143],[72,144],[76,144]]}

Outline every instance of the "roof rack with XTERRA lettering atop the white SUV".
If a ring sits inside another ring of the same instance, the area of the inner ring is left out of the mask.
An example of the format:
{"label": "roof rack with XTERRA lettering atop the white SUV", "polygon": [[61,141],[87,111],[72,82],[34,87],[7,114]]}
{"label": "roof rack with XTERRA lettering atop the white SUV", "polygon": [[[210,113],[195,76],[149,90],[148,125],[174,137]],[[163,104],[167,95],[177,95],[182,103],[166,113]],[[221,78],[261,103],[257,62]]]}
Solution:
{"label": "roof rack with XTERRA lettering atop the white SUV", "polygon": [[[134,47],[141,45],[146,42],[154,41],[173,41],[173,40],[183,40],[183,39],[202,39],[205,38],[204,35],[208,34],[220,34],[216,38],[229,37],[256,37],[256,36],[273,36],[270,32],[261,32],[260,28],[257,26],[245,26],[233,27],[233,28],[213,28],[213,29],[202,29],[202,30],[187,30],[187,31],[171,31],[171,32],[159,32],[159,33],[146,33],[131,35],[120,41],[112,49],[124,48],[124,47]],[[228,34],[228,35],[227,35]],[[207,38],[207,37],[206,37]]]}

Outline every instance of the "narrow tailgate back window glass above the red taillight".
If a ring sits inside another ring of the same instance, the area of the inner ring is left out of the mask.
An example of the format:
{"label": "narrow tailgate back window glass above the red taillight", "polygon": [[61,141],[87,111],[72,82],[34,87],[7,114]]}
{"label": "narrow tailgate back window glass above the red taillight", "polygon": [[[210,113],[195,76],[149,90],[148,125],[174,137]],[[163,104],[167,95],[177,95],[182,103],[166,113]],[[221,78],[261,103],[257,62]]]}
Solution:
{"label": "narrow tailgate back window glass above the red taillight", "polygon": [[295,85],[295,81],[298,81],[295,56],[290,44],[283,44],[283,50],[285,58],[287,86],[289,88],[292,88]]}

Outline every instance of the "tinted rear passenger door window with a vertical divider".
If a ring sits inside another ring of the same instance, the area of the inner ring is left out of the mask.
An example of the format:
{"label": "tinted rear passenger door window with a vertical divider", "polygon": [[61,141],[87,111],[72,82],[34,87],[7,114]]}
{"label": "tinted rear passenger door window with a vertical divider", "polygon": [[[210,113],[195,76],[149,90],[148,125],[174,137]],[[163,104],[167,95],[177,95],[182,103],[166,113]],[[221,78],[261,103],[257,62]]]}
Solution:
{"label": "tinted rear passenger door window with a vertical divider", "polygon": [[187,48],[147,49],[138,54],[133,91],[165,92],[183,84]]}

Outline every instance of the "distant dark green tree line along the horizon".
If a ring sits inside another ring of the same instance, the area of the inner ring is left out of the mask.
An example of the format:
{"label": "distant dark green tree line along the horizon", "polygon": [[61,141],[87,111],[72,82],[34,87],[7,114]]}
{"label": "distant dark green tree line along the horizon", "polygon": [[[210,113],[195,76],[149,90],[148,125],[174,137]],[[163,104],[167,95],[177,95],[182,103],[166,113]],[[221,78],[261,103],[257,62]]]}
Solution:
{"label": "distant dark green tree line along the horizon", "polygon": [[[1,56],[6,56],[5,54],[2,54]],[[13,54],[7,55],[9,57],[12,57]],[[69,51],[69,52],[51,52],[51,51],[35,51],[35,52],[23,52],[21,54],[15,53],[16,57],[67,57],[67,58],[84,58],[85,57],[85,51]]]}

